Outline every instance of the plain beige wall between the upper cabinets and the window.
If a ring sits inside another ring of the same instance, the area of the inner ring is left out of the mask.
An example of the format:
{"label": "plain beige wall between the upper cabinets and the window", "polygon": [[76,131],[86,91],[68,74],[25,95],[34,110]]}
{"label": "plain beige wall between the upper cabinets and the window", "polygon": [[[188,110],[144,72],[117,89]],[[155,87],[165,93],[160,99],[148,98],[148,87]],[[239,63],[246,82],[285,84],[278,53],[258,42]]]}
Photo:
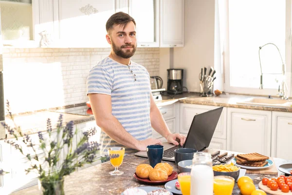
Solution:
{"label": "plain beige wall between the upper cabinets and the window", "polygon": [[214,67],[215,0],[185,0],[184,9],[185,42],[174,48],[173,68],[184,69],[183,85],[199,92],[201,68]]}

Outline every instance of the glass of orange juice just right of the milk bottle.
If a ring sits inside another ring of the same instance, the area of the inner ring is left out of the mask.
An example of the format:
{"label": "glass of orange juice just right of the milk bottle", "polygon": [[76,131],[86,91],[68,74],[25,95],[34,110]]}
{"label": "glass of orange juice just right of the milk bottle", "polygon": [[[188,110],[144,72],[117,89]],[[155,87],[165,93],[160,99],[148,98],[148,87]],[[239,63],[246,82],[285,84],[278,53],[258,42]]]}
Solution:
{"label": "glass of orange juice just right of the milk bottle", "polygon": [[233,177],[214,176],[214,195],[232,195],[233,187]]}

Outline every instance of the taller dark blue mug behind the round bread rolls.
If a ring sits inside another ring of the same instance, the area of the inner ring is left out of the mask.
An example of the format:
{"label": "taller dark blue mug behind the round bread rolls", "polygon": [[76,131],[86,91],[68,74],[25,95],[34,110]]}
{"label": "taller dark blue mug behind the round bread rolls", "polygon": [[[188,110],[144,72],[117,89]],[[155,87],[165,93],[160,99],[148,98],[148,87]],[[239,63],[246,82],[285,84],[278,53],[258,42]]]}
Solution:
{"label": "taller dark blue mug behind the round bread rolls", "polygon": [[147,156],[150,165],[154,168],[157,163],[162,161],[164,146],[162,145],[149,145],[146,148]]}

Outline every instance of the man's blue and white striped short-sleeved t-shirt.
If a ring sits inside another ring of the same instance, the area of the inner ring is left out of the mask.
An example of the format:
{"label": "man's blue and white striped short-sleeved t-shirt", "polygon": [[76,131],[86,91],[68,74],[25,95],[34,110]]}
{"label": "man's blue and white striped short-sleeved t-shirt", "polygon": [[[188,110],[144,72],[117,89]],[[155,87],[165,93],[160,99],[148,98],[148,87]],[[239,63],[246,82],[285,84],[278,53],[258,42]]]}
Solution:
{"label": "man's blue and white striped short-sleeved t-shirt", "polygon": [[[138,140],[152,137],[150,123],[150,78],[145,67],[131,61],[121,64],[107,57],[94,66],[87,77],[87,94],[111,96],[111,114],[125,130]],[[111,139],[104,131],[100,134],[101,155],[108,148],[125,147]],[[136,150],[125,147],[126,153]]]}

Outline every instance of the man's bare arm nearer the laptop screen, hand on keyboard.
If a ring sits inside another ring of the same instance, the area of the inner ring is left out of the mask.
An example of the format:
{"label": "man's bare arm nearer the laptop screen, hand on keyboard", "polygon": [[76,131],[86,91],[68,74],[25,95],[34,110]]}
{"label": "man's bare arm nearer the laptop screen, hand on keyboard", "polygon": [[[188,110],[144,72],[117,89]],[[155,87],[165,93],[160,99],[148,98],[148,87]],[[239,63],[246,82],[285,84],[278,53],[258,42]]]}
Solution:
{"label": "man's bare arm nearer the laptop screen, hand on keyboard", "polygon": [[182,136],[181,134],[172,134],[169,131],[166,122],[154,101],[152,94],[150,95],[150,120],[153,129],[157,131],[160,135],[165,137],[168,142],[173,143],[174,145],[179,145],[179,142],[176,141],[176,139],[178,138],[180,139],[181,145],[184,144],[184,141],[186,139],[185,136]]}

